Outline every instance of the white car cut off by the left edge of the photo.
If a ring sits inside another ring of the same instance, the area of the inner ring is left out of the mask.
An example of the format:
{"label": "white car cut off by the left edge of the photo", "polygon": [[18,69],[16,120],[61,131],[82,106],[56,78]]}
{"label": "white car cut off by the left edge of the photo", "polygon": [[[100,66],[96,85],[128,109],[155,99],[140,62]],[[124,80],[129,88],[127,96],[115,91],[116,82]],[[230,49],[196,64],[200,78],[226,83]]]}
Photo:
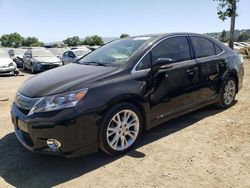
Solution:
{"label": "white car cut off by the left edge of the photo", "polygon": [[9,54],[0,49],[0,75],[6,74],[18,75],[19,71]]}

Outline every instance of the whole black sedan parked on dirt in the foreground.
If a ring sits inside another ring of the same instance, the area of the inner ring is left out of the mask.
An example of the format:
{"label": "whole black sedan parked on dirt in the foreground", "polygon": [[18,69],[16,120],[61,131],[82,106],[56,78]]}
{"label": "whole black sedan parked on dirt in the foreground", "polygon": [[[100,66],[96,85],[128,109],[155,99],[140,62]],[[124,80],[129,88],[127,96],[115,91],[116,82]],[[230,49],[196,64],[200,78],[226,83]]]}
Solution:
{"label": "whole black sedan parked on dirt in the foreground", "polygon": [[206,105],[232,106],[243,74],[239,55],[208,36],[120,39],[24,82],[12,121],[20,142],[37,153],[118,155],[143,130]]}

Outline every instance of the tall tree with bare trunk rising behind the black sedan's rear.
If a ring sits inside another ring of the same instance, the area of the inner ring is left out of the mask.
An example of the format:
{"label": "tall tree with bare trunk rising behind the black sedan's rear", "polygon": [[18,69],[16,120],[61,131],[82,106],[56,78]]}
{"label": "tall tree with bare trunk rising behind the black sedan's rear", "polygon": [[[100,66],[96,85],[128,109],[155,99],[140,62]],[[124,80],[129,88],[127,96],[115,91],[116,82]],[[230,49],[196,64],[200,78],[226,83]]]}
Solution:
{"label": "tall tree with bare trunk rising behind the black sedan's rear", "polygon": [[231,18],[230,24],[230,37],[229,37],[229,46],[233,49],[234,46],[234,29],[235,29],[235,18],[237,16],[236,9],[237,9],[237,2],[239,0],[214,0],[218,1],[218,16],[219,19],[225,21],[228,18]]}

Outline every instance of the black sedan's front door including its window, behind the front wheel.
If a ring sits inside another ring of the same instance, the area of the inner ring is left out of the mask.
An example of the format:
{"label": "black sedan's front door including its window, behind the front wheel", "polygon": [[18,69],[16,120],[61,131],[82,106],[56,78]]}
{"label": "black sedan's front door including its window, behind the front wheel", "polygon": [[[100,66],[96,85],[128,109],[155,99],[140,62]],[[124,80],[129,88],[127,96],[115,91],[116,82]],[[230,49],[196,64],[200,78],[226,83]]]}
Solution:
{"label": "black sedan's front door including its window, behind the front wheel", "polygon": [[152,49],[152,62],[158,58],[171,58],[174,64],[172,68],[160,70],[152,76],[152,121],[174,115],[195,103],[199,84],[198,67],[192,59],[187,36],[167,38],[156,45]]}

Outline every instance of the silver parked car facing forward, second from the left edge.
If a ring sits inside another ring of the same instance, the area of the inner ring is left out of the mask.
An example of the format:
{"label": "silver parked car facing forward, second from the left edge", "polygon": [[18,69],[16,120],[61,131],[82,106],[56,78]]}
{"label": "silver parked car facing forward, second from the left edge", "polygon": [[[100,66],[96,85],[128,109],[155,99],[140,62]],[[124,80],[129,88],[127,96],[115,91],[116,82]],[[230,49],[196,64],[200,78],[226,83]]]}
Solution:
{"label": "silver parked car facing forward, second from the left edge", "polygon": [[29,49],[23,55],[23,67],[31,70],[32,73],[62,65],[62,61],[46,49]]}

